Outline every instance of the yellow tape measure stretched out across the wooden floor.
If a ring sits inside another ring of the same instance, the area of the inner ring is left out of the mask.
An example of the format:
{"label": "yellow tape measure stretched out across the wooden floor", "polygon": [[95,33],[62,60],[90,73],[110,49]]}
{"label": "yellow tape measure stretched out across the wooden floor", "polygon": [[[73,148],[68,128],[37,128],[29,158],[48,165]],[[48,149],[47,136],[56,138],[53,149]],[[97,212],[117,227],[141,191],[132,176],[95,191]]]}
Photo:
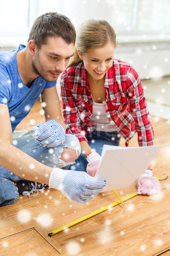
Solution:
{"label": "yellow tape measure stretched out across the wooden floor", "polygon": [[[127,197],[123,198],[122,201],[124,202],[124,201],[126,201],[126,200],[128,200],[128,199],[130,199],[130,198],[133,198],[133,197],[136,196],[136,195],[138,195],[138,194],[137,194],[137,193],[134,193],[134,194],[132,194],[132,195],[128,195]],[[85,215],[84,217],[77,219],[76,221],[72,221],[72,222],[70,222],[70,223],[68,223],[68,224],[66,224],[66,225],[64,225],[64,226],[62,226],[62,227],[57,228],[56,230],[51,231],[50,233],[48,233],[48,236],[51,237],[51,236],[54,235],[55,233],[58,233],[59,231],[62,231],[62,230],[64,230],[65,228],[71,227],[71,226],[73,226],[73,225],[75,225],[75,224],[77,224],[77,223],[79,223],[79,222],[81,222],[81,221],[84,221],[84,220],[88,219],[88,218],[91,218],[92,216],[94,216],[94,215],[96,215],[96,214],[98,214],[98,213],[100,213],[100,212],[104,212],[105,210],[107,210],[107,209],[109,209],[109,208],[115,206],[116,204],[121,204],[121,202],[120,202],[120,201],[116,201],[116,202],[114,202],[114,203],[112,203],[112,204],[109,204],[109,205],[107,205],[107,206],[105,206],[105,207],[99,209],[99,210],[96,210],[95,212],[91,212],[91,213],[89,213],[88,215]]]}

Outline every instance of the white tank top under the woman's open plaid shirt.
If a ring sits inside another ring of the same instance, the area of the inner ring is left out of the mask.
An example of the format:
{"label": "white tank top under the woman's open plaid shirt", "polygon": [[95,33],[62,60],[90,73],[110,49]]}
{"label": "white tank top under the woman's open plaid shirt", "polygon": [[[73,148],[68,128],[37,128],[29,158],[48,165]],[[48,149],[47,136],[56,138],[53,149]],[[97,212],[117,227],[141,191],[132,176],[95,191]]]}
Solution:
{"label": "white tank top under the woman's open plaid shirt", "polygon": [[116,131],[113,125],[110,124],[108,117],[106,116],[105,103],[93,102],[92,121],[96,126],[97,131]]}

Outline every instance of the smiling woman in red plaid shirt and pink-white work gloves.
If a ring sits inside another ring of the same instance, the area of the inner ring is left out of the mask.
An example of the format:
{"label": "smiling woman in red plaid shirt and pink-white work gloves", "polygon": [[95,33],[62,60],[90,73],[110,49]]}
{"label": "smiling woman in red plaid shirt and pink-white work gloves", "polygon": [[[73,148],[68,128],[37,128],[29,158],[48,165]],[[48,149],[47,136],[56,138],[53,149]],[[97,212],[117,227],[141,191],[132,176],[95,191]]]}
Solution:
{"label": "smiling woman in red plaid shirt and pink-white work gloves", "polygon": [[[136,131],[139,146],[153,145],[154,140],[139,76],[129,64],[113,58],[115,47],[116,34],[107,21],[85,21],[77,32],[74,57],[61,78],[67,133],[75,134],[82,148],[71,169],[93,177],[104,144],[119,146],[122,136],[127,146]],[[160,189],[152,170],[143,176],[137,180],[140,194]],[[152,183],[149,188],[142,185],[146,180]]]}

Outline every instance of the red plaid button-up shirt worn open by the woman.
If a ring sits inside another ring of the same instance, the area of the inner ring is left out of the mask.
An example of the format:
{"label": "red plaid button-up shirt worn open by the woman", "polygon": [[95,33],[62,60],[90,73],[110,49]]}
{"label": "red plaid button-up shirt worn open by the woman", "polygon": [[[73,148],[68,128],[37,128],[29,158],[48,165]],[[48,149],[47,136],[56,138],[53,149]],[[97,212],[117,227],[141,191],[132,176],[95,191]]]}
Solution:
{"label": "red plaid button-up shirt worn open by the woman", "polygon": [[[83,63],[65,70],[61,77],[63,115],[67,133],[79,141],[95,130],[91,120],[93,99]],[[105,111],[116,131],[128,141],[138,133],[139,146],[153,145],[154,133],[147,102],[138,74],[123,62],[113,59],[105,75]]]}

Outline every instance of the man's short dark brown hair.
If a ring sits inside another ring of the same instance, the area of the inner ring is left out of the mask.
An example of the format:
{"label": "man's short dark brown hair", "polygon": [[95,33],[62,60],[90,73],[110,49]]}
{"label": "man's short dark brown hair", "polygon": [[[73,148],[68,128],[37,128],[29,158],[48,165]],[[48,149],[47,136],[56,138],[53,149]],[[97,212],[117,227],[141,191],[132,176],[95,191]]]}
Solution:
{"label": "man's short dark brown hair", "polygon": [[58,36],[63,38],[68,44],[75,43],[76,31],[65,15],[57,12],[49,12],[38,17],[31,28],[28,42],[34,40],[38,49],[42,44],[47,43],[47,38]]}

